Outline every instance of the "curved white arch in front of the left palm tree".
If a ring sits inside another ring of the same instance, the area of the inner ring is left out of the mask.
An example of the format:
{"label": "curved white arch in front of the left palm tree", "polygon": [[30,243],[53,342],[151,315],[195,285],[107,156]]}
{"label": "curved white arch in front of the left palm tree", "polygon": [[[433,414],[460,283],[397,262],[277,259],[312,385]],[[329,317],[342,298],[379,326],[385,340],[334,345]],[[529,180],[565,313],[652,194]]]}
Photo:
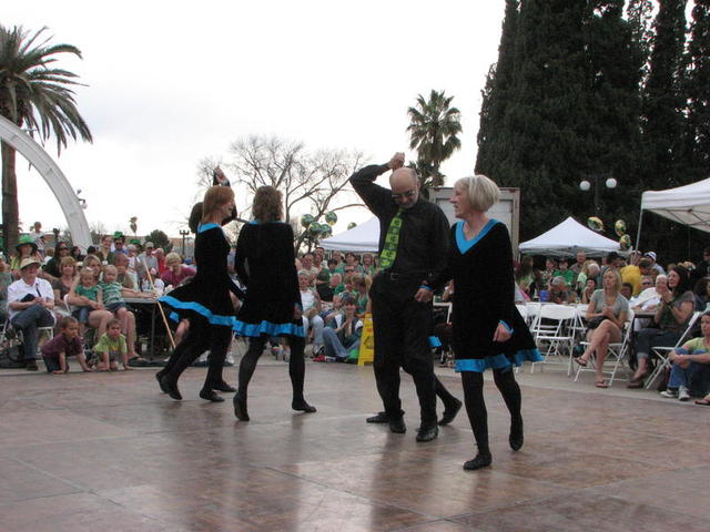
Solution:
{"label": "curved white arch in front of the left palm tree", "polygon": [[74,190],[57,163],[30,135],[4,116],[0,116],[0,139],[20,152],[44,178],[62,207],[73,244],[85,252],[91,245],[89,224]]}

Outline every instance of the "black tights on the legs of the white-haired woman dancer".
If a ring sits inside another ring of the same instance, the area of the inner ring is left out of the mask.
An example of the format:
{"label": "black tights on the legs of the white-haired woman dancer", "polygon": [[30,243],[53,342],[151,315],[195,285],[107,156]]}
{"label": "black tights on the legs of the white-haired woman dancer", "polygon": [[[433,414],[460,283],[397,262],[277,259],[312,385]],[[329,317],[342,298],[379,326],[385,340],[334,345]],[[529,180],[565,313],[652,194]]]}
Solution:
{"label": "black tights on the legs of the white-haired woman dancer", "polygon": [[[520,387],[515,380],[511,368],[507,370],[494,369],[493,378],[500,390],[504,401],[510,411],[510,427],[514,430],[519,427],[523,417],[520,415]],[[462,371],[462,383],[464,385],[464,400],[466,401],[466,413],[476,438],[478,452],[488,453],[488,412],[484,400],[484,374],[477,371]]]}

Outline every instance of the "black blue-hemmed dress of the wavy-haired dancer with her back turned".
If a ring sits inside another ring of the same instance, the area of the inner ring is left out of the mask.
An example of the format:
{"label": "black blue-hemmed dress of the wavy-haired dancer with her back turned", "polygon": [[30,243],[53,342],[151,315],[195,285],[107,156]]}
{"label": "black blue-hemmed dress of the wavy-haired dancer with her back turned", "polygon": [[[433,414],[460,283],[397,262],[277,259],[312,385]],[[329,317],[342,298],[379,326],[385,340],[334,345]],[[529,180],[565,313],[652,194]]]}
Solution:
{"label": "black blue-hemmed dress of the wavy-haired dancer with her back turned", "polygon": [[236,242],[234,268],[246,286],[236,317],[237,335],[304,337],[303,320],[294,319],[301,306],[293,229],[283,222],[250,222]]}

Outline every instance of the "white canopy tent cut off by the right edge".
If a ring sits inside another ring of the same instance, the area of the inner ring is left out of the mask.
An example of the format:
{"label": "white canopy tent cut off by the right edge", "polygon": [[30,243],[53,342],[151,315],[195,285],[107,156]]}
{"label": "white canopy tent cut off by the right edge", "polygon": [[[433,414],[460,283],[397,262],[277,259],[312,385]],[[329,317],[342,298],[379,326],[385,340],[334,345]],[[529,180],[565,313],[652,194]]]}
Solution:
{"label": "white canopy tent cut off by the right edge", "polygon": [[710,177],[677,188],[647,191],[641,194],[637,245],[641,236],[643,211],[710,233]]}

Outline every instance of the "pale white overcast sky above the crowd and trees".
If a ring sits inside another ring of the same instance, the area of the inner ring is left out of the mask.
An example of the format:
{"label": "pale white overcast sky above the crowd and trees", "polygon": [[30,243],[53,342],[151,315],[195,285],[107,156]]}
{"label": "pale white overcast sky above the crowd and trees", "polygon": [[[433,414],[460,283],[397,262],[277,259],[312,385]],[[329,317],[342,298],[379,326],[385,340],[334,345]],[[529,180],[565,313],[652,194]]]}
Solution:
{"label": "pale white overcast sky above the crowd and trees", "polygon": [[[78,47],[61,66],[80,74],[79,110],[93,144],[57,160],[88,202],[89,225],[176,235],[205,156],[229,161],[251,134],[311,149],[407,158],[407,108],[432,89],[462,112],[463,149],[442,171],[473,173],[480,91],[497,58],[505,2],[125,0],[4,2],[2,24],[43,25]],[[57,156],[55,145],[48,143]],[[227,174],[229,175],[229,174]],[[18,155],[20,218],[65,227],[42,177]],[[239,197],[237,206],[246,198]],[[364,212],[339,213],[336,233]]]}

